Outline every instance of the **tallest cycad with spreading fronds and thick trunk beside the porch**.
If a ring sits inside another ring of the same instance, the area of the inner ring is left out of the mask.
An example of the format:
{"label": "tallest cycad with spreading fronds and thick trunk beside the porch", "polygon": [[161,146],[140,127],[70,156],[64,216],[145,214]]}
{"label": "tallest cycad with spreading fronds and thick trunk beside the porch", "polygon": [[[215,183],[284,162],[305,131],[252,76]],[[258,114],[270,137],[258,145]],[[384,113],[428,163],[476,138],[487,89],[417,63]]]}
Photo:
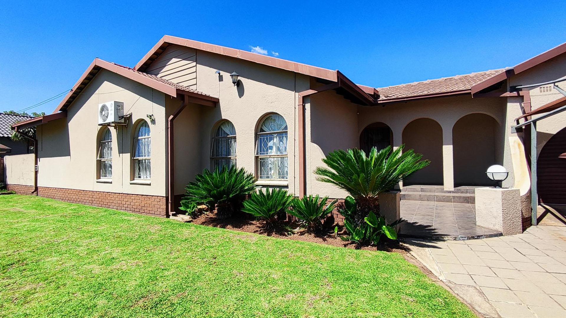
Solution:
{"label": "tallest cycad with spreading fronds and thick trunk beside the porch", "polygon": [[379,215],[379,194],[430,164],[413,149],[402,152],[404,147],[394,151],[391,146],[381,151],[374,147],[367,156],[360,149],[333,151],[322,160],[328,167],[316,168],[316,179],[348,191],[357,203],[357,220],[363,220],[370,211]]}

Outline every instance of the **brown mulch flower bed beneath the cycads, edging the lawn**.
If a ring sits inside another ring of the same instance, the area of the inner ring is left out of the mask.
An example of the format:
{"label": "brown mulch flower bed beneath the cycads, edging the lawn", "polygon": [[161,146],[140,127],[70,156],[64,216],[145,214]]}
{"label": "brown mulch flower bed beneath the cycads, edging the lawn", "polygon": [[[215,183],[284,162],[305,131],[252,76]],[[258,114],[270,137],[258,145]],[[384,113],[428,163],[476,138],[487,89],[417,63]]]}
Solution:
{"label": "brown mulch flower bed beneath the cycads, edging the lawn", "polygon": [[[333,221],[333,217],[329,217],[325,224],[332,224],[327,226],[327,230],[322,233],[311,234],[307,233],[301,227],[301,224],[295,220],[288,218],[286,221],[280,221],[275,224],[272,229],[265,226],[265,222],[254,220],[247,215],[234,215],[228,218],[217,218],[216,213],[202,213],[193,217],[194,224],[221,227],[222,229],[242,231],[248,233],[255,233],[267,235],[275,238],[302,240],[305,242],[314,242],[319,244],[327,244],[337,247],[355,248],[355,244],[340,239],[341,236],[346,235],[346,230],[343,225]],[[330,222],[330,223],[329,223]],[[338,227],[338,236],[334,234],[335,227]],[[396,240],[389,240],[385,237],[381,238],[378,246],[365,246],[361,248],[366,251],[386,251],[398,252],[405,254],[408,252],[406,247]]]}

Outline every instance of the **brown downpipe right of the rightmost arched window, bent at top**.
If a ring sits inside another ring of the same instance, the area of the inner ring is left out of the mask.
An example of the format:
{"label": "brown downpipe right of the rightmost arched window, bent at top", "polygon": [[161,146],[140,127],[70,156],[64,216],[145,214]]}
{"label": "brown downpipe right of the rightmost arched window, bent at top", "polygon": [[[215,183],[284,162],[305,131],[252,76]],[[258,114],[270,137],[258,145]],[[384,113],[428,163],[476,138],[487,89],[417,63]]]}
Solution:
{"label": "brown downpipe right of the rightmost arched window, bent at top", "polygon": [[307,91],[303,91],[299,93],[299,197],[305,196],[307,192],[307,182],[306,182],[306,153],[305,153],[305,145],[306,145],[306,138],[305,135],[305,128],[306,128],[306,120],[305,120],[305,102],[303,102],[303,98],[307,96],[314,95],[316,93],[329,91],[330,89],[336,89],[340,87],[339,83],[331,83],[324,85],[317,89],[307,89]]}

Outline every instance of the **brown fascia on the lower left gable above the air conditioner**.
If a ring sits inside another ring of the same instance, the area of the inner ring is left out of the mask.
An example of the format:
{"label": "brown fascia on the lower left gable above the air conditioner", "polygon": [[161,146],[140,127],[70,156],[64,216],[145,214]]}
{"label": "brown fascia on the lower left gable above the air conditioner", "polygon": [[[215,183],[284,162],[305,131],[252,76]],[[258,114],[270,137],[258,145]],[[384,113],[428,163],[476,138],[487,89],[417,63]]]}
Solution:
{"label": "brown fascia on the lower left gable above the air conditioner", "polygon": [[[157,89],[157,91],[168,94],[169,96],[176,97],[178,93],[189,94],[191,97],[200,98],[201,100],[203,100],[204,104],[207,104],[207,105],[208,105],[208,102],[217,102],[218,101],[218,98],[216,98],[216,97],[203,95],[203,94],[199,94],[199,93],[196,93],[196,92],[182,91],[180,89],[172,87],[171,85],[168,85],[166,83],[162,83],[161,81],[158,81],[158,80],[155,80],[155,79],[152,79],[152,78],[148,78],[147,76],[138,74],[137,72],[132,71],[131,69],[128,69],[126,67],[122,67],[122,66],[119,66],[117,64],[106,62],[106,61],[99,59],[99,58],[95,58],[95,60],[92,61],[91,65],[89,65],[87,70],[84,71],[83,75],[80,76],[79,80],[75,83],[75,85],[73,86],[73,89],[69,93],[67,93],[65,98],[63,98],[63,100],[61,101],[61,103],[59,103],[59,106],[57,106],[57,109],[55,109],[55,111],[53,111],[53,113],[57,113],[58,111],[61,111],[61,110],[66,110],[68,108],[68,106],[70,106],[70,104],[74,101],[74,98],[71,99],[71,97],[74,94],[78,94],[78,93],[80,93],[80,91],[82,91],[84,86],[88,84],[88,83],[84,83],[85,81],[90,81],[88,76],[91,74],[91,72],[99,70],[100,68],[104,68],[105,70],[108,70],[110,72],[114,72],[115,74],[118,74],[118,75],[122,75],[125,78],[131,79],[131,80],[136,81],[140,84],[146,85],[146,86],[151,87],[153,89]],[[83,86],[83,87],[81,87],[81,86]]]}

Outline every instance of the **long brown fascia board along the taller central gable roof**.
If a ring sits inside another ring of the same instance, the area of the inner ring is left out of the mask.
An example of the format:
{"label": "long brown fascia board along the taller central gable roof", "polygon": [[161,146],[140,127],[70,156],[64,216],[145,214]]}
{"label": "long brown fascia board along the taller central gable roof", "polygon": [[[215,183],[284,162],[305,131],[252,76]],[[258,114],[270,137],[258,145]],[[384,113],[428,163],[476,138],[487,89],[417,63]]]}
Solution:
{"label": "long brown fascia board along the taller central gable roof", "polygon": [[313,76],[315,78],[337,81],[336,71],[328,70],[327,68],[321,68],[311,65],[306,65],[297,62],[287,61],[285,59],[269,57],[262,54],[251,53],[248,51],[226,48],[225,46],[208,44],[199,41],[188,40],[186,38],[175,37],[166,35],[157,42],[153,48],[145,54],[145,56],[136,64],[135,70],[143,72],[151,62],[153,62],[160,53],[158,51],[164,50],[166,46],[170,44],[176,44],[181,46],[186,46],[187,48],[193,48],[197,50],[207,51],[211,53],[216,53],[220,55],[225,55],[233,58],[243,59],[245,61],[250,61],[254,63],[259,63],[267,66],[281,68],[282,70],[292,71],[299,74],[304,74],[308,76]]}

